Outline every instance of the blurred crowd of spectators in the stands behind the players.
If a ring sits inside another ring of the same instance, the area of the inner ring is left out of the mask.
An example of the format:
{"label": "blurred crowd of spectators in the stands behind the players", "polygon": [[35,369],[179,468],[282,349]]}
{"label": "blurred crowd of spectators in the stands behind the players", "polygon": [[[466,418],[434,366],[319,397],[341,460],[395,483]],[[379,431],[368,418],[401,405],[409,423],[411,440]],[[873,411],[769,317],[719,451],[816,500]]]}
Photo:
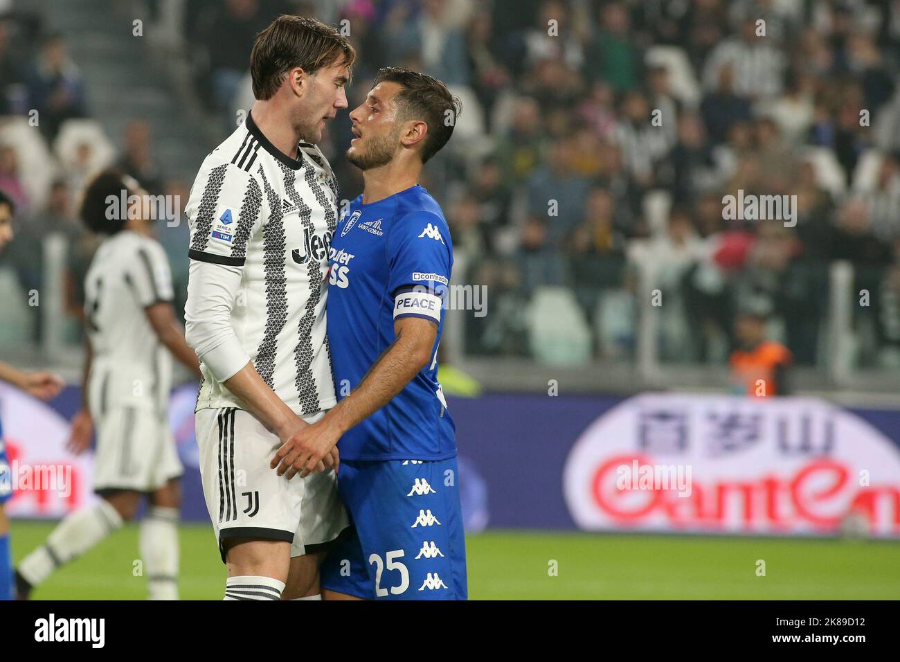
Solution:
{"label": "blurred crowd of spectators in the stands behind the players", "polygon": [[[725,362],[735,315],[751,311],[798,364],[814,366],[827,352],[829,269],[847,260],[854,301],[869,292],[854,306],[857,363],[900,365],[900,2],[136,6],[156,32],[148,48],[176,53],[190,71],[212,119],[210,147],[252,104],[249,50],[277,14],[349,30],[359,53],[351,108],[384,65],[451,86],[464,110],[423,185],[450,222],[455,281],[488,287],[488,314],[466,319],[468,354],[541,358],[562,346],[574,362],[632,360],[635,294],[649,282],[662,292],[663,360]],[[151,193],[185,202],[189,182],[168,176],[140,118],[125,136],[84,123],[88,84],[67,39],[31,14],[0,21],[0,107],[21,120],[0,128],[0,188],[20,206],[19,237],[0,264],[23,290],[37,288],[39,239],[64,232],[76,319],[94,246],[74,214],[85,178],[118,163]],[[32,109],[40,132],[23,123]],[[342,156],[349,127],[339,116],[322,147],[352,199],[362,182]],[[796,195],[796,225],[725,220],[723,196],[739,190]],[[169,237],[178,277],[186,243]]]}

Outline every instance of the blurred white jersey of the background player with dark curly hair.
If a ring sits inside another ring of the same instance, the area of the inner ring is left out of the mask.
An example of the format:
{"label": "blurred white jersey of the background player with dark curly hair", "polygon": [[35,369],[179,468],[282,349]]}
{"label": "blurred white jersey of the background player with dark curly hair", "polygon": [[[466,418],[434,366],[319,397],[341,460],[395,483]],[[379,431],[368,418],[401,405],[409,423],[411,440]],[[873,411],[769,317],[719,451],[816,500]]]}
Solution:
{"label": "blurred white jersey of the background player with dark curly hair", "polygon": [[88,402],[94,416],[130,407],[165,412],[172,355],[145,309],[173,298],[166,251],[130,230],[103,240],[85,276],[85,327],[93,358]]}

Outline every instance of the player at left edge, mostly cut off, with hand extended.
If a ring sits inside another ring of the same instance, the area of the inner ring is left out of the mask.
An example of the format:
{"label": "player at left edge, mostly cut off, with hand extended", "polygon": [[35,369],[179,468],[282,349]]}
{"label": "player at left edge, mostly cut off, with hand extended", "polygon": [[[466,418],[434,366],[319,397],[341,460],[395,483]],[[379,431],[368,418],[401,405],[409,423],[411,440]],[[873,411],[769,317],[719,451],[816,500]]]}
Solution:
{"label": "player at left edge, mostly cut off, with hand extended", "polygon": [[[13,240],[13,214],[15,205],[3,191],[0,191],[0,250]],[[62,380],[49,372],[23,372],[0,362],[0,381],[21,388],[25,393],[41,400],[56,397],[62,390]],[[9,520],[4,503],[13,496],[13,475],[6,458],[3,437],[3,423],[0,422],[0,600],[12,600],[13,594],[13,551],[10,545]]]}

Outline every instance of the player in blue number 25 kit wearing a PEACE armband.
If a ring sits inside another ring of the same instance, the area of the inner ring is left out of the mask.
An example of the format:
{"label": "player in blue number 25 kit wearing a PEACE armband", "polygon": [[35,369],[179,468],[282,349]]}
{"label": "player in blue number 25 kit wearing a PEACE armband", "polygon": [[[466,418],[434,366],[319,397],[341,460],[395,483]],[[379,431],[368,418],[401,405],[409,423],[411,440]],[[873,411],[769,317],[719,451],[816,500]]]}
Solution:
{"label": "player in blue number 25 kit wearing a PEACE armband", "polygon": [[459,110],[435,78],[383,68],[350,113],[347,159],[363,170],[365,190],[329,249],[338,404],[273,461],[305,475],[338,443],[338,491],[352,526],[322,564],[324,599],[468,596],[455,426],[437,382],[453,244],[418,183]]}

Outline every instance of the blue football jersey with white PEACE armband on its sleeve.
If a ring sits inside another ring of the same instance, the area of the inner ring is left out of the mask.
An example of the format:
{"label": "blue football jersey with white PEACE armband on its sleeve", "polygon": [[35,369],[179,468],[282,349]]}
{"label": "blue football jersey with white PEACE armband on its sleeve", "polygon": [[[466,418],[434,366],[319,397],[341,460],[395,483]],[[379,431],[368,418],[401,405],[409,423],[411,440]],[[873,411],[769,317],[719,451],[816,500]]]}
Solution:
{"label": "blue football jersey with white PEACE armband on its sleeve", "polygon": [[338,442],[341,458],[456,455],[455,425],[437,382],[453,244],[444,213],[419,185],[372,204],[362,196],[338,223],[329,250],[328,334],[338,400],[395,340],[394,320],[437,322],[430,364],[400,394]]}

